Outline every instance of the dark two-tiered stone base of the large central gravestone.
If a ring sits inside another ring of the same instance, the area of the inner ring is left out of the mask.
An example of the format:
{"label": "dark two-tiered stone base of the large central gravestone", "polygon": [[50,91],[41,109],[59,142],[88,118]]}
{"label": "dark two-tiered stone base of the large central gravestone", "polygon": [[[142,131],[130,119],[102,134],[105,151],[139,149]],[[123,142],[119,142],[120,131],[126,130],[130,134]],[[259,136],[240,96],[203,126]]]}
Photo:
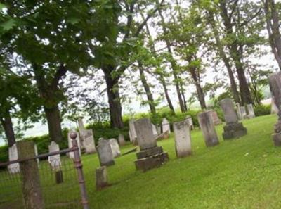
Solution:
{"label": "dark two-tiered stone base of the large central gravestone", "polygon": [[136,153],[138,160],[135,160],[136,170],[143,172],[155,167],[160,167],[169,160],[168,153],[164,153],[162,147],[155,146]]}

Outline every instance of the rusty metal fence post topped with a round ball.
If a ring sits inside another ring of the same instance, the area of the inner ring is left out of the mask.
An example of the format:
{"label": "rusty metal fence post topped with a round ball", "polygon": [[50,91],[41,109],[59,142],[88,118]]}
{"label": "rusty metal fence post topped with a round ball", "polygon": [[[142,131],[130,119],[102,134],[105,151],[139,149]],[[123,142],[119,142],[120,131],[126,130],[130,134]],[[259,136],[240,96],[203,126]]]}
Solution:
{"label": "rusty metal fence post topped with a round ball", "polygon": [[70,138],[72,139],[72,146],[73,146],[73,148],[75,148],[74,166],[77,169],[78,181],[79,181],[80,192],[81,192],[81,202],[83,205],[83,209],[89,209],[89,202],[88,202],[88,197],[87,197],[87,192],[86,192],[85,179],[84,179],[84,174],[83,174],[83,170],[82,170],[83,165],[81,163],[81,158],[80,158],[79,149],[78,149],[77,140],[76,140],[77,133],[71,132]]}

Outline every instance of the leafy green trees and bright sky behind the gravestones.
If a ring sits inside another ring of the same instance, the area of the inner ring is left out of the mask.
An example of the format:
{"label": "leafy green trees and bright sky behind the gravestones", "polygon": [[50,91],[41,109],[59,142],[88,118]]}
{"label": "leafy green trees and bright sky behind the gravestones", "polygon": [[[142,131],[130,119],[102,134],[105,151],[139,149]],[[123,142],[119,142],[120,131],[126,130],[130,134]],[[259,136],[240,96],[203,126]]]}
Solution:
{"label": "leafy green trees and bright sky behind the gravestones", "polygon": [[204,110],[211,99],[216,108],[224,96],[258,107],[277,70],[261,60],[272,56],[281,69],[280,6],[273,0],[1,1],[0,132],[12,146],[34,122],[46,122],[48,142],[66,144],[62,122],[81,116],[100,129],[126,132],[122,110],[136,99],[155,123],[192,115],[196,125],[192,103]]}

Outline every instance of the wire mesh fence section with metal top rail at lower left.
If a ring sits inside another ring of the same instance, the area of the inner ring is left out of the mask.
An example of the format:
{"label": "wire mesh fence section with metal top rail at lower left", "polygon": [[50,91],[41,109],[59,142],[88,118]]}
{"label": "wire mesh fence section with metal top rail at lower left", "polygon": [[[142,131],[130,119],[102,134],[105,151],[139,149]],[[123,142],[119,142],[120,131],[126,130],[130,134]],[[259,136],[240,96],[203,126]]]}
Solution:
{"label": "wire mesh fence section with metal top rail at lower left", "polygon": [[89,209],[75,138],[72,139],[72,148],[0,163],[0,209],[25,208],[20,167],[27,160],[37,160],[44,209]]}

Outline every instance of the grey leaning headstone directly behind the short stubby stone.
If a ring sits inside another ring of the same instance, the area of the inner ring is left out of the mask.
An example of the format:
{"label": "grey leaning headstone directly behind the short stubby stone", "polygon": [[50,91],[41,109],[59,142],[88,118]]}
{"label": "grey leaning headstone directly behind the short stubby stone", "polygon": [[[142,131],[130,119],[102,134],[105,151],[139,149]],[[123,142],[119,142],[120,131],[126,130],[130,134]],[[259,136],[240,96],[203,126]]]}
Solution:
{"label": "grey leaning headstone directly behind the short stubby stone", "polygon": [[106,139],[100,140],[97,146],[97,151],[98,151],[98,159],[100,160],[100,166],[115,165],[112,148],[110,146],[110,141]]}

